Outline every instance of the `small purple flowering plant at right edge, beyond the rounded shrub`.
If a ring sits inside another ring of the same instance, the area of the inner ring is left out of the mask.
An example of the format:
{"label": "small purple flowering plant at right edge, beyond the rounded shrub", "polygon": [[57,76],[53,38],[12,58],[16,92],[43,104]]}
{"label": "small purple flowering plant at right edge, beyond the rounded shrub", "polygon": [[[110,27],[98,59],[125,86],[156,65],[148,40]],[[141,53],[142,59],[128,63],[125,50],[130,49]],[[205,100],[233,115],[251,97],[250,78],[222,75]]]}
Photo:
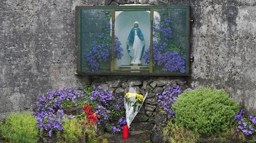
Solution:
{"label": "small purple flowering plant at right edge, beyond the rounded shrub", "polygon": [[256,133],[256,117],[249,116],[245,118],[243,109],[236,114],[234,120],[236,120],[238,124],[237,131],[242,131],[245,135]]}

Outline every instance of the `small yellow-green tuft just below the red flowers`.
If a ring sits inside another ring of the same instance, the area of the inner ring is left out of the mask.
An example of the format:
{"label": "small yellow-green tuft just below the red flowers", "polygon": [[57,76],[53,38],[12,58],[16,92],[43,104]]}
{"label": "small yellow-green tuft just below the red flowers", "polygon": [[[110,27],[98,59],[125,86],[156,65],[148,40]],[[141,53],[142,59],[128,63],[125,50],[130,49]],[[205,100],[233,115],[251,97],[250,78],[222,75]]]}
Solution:
{"label": "small yellow-green tuft just below the red flowers", "polygon": [[62,123],[63,132],[62,137],[65,139],[65,142],[68,143],[78,143],[79,138],[82,136],[82,125],[77,119],[68,119]]}

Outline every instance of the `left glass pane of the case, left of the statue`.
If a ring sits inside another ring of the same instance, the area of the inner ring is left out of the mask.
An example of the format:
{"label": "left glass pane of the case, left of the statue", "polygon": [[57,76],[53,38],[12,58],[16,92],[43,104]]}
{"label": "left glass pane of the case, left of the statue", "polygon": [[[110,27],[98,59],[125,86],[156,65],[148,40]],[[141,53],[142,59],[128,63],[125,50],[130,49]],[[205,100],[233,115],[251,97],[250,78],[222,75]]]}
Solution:
{"label": "left glass pane of the case, left of the statue", "polygon": [[81,9],[81,71],[110,72],[111,12],[103,9]]}

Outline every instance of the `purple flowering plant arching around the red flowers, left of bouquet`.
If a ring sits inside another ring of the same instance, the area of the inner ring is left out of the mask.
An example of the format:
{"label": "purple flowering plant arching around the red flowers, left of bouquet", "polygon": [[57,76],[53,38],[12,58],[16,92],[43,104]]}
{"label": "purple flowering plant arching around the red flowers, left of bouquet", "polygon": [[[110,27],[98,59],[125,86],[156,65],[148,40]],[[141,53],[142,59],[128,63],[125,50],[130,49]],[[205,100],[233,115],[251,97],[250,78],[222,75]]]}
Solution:
{"label": "purple flowering plant arching around the red flowers, left of bouquet", "polygon": [[[38,128],[41,131],[47,131],[51,136],[54,131],[62,131],[61,121],[74,116],[65,115],[63,107],[65,106],[83,106],[90,104],[93,112],[99,115],[98,126],[105,128],[109,132],[121,131],[123,124],[126,124],[124,118],[123,96],[115,98],[108,89],[102,89],[101,86],[85,86],[78,90],[69,87],[49,91],[46,97],[40,97],[37,101],[37,111],[34,113],[37,118]],[[112,121],[118,121],[114,124]]]}

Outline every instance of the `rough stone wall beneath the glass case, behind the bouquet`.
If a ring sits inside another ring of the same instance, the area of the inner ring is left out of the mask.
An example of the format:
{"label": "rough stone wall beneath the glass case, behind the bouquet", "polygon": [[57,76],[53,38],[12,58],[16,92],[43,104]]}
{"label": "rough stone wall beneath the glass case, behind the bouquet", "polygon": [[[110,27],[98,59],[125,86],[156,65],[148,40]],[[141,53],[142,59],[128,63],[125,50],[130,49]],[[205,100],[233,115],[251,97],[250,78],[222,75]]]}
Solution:
{"label": "rough stone wall beneath the glass case, behind the bouquet", "polygon": [[129,87],[134,87],[136,93],[146,95],[146,99],[130,124],[130,131],[152,130],[150,135],[153,143],[163,143],[162,128],[167,124],[167,115],[161,110],[157,93],[162,93],[168,87],[187,89],[186,81],[179,78],[113,78],[93,77],[91,86],[100,85],[103,89],[110,89],[116,98],[125,95]]}

